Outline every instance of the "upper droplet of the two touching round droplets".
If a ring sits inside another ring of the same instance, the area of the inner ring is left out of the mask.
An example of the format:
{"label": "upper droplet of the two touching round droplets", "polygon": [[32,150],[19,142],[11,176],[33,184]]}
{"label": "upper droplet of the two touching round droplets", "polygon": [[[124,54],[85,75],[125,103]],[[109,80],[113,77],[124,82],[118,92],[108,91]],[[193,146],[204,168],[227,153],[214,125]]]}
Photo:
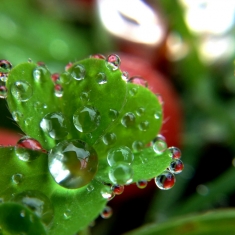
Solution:
{"label": "upper droplet of the two touching round droplets", "polygon": [[109,150],[107,161],[110,166],[114,166],[119,162],[131,164],[134,160],[132,151],[126,146],[115,147]]}

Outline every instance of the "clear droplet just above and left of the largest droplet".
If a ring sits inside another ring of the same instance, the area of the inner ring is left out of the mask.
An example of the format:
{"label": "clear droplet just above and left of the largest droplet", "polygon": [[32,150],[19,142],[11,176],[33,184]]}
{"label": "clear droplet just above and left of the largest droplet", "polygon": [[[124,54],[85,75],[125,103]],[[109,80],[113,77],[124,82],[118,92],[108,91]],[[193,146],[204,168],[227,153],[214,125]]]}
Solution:
{"label": "clear droplet just above and left of the largest droplet", "polygon": [[68,135],[67,126],[62,113],[49,113],[40,122],[40,127],[53,139],[63,139]]}

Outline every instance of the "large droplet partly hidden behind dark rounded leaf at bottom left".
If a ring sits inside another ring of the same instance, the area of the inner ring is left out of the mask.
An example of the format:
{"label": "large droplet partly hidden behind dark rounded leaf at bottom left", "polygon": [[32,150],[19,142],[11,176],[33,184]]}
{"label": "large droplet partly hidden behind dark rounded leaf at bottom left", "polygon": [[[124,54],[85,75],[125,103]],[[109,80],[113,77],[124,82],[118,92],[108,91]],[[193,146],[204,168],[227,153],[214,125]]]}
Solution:
{"label": "large droplet partly hidden behind dark rounded leaf at bottom left", "polygon": [[52,225],[54,210],[49,198],[36,190],[24,191],[16,194],[14,202],[20,203],[32,210],[48,227]]}

